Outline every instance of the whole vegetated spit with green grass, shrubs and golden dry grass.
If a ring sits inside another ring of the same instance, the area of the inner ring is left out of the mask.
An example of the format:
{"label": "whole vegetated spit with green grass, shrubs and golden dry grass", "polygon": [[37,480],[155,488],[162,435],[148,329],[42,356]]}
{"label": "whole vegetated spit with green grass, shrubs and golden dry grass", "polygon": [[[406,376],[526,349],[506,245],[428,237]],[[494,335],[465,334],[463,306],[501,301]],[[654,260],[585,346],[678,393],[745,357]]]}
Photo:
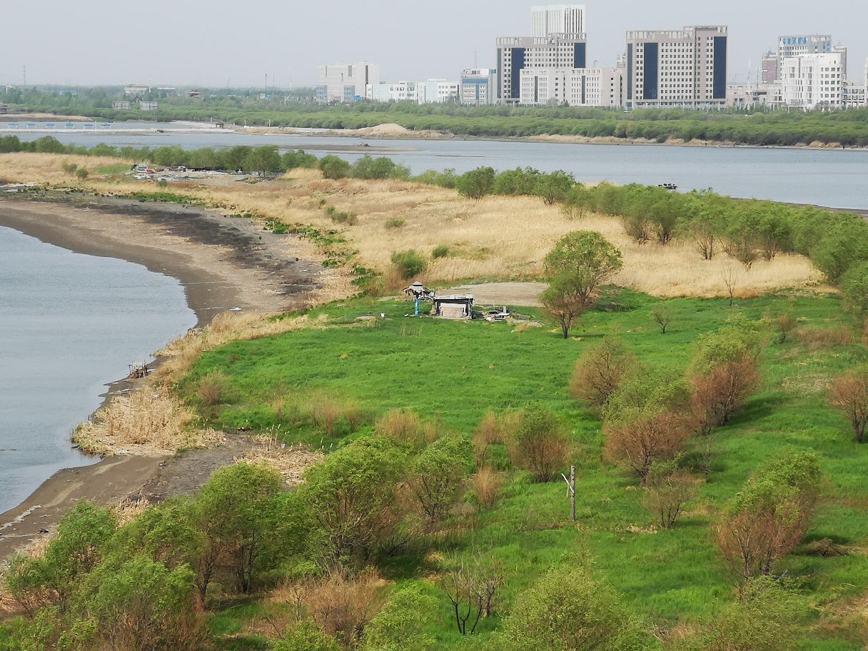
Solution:
{"label": "whole vegetated spit with green grass, shrubs and golden dry grass", "polygon": [[[35,164],[11,156],[4,177]],[[55,158],[39,159],[55,187],[142,192]],[[132,517],[82,503],[11,562],[3,604],[20,614],[0,649],[864,648],[861,220],[533,170],[360,181],[317,165],[174,196],[306,225],[349,249],[329,257],[345,273],[374,273],[354,298],[194,346],[170,385],[198,427],[325,458],[291,491],[242,463]],[[338,230],[327,206],[355,220]],[[417,225],[440,239],[406,247]],[[566,288],[567,332],[545,295],[512,323],[409,319],[378,298],[404,275],[449,279],[443,260],[473,278],[472,249],[522,226],[483,277]],[[673,293],[652,258],[720,276]],[[810,273],[779,273],[790,263]]]}

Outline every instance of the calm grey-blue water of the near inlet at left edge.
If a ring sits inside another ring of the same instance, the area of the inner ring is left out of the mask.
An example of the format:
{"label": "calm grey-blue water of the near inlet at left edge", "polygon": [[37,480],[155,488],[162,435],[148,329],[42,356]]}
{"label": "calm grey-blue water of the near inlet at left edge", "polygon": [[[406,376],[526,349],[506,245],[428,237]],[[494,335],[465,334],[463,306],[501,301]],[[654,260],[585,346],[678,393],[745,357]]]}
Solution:
{"label": "calm grey-blue water of the near inlet at left edge", "polygon": [[0,227],[0,512],[56,470],[94,463],[72,429],[106,382],[195,322],[177,279]]}

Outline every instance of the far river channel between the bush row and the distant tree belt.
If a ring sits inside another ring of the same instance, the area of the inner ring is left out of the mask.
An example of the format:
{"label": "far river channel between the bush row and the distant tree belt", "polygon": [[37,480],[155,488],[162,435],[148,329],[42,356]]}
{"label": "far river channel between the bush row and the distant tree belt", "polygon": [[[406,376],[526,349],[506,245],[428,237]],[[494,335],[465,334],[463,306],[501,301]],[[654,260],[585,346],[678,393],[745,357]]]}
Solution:
{"label": "far river channel between the bush row and the distant tree belt", "polygon": [[[0,125],[2,127],[2,125]],[[322,135],[248,135],[184,124],[118,124],[112,128],[150,128],[152,133],[100,133],[81,128],[52,133],[62,142],[93,146],[182,148],[277,145],[279,148],[317,147],[317,155],[332,153],[349,161],[362,154],[340,151],[347,145],[368,143],[385,148],[385,155],[411,168],[454,168],[457,172],[483,165],[503,170],[530,166],[545,171],[562,169],[579,181],[615,183],[675,183],[682,190],[713,188],[741,198],[812,203],[841,208],[868,208],[868,151],[773,148],[671,147],[653,145],[577,145],[556,142],[482,140],[379,140]],[[157,133],[162,128],[165,133]],[[172,133],[175,131],[175,133]],[[44,133],[3,130],[34,140]],[[324,149],[319,149],[324,148]]]}

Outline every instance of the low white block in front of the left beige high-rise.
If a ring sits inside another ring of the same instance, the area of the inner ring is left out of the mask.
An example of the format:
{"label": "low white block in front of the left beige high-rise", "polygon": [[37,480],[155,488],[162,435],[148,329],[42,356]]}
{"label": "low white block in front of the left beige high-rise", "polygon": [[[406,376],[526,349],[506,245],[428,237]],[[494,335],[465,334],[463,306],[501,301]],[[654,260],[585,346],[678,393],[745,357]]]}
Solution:
{"label": "low white block in front of the left beige high-rise", "polygon": [[519,103],[620,109],[625,77],[622,68],[526,68],[522,70]]}

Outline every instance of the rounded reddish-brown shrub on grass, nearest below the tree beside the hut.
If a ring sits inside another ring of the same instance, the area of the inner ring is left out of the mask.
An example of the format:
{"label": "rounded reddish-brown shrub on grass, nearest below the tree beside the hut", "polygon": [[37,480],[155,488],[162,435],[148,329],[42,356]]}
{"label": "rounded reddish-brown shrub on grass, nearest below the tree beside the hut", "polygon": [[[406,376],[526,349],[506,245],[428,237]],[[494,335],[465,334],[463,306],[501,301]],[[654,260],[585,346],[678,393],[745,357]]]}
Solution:
{"label": "rounded reddish-brown shrub on grass, nearest below the tree beside the hut", "polygon": [[635,355],[628,352],[621,339],[603,339],[590,345],[576,360],[569,380],[569,395],[602,408],[635,365]]}

